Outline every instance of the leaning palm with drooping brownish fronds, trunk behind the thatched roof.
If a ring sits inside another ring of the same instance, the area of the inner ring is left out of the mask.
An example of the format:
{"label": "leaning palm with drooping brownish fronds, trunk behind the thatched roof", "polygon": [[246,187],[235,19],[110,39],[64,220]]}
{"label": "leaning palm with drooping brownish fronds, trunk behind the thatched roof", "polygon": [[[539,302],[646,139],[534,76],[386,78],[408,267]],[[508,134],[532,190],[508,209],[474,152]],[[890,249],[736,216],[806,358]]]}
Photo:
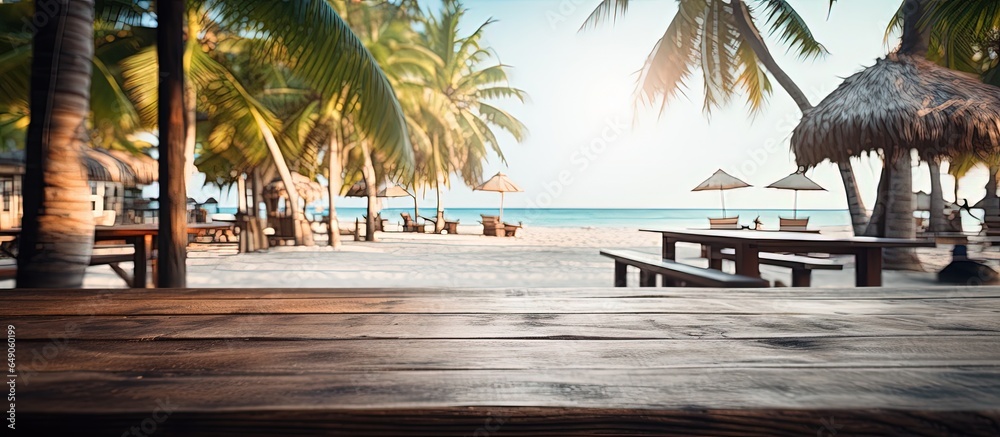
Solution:
{"label": "leaning palm with drooping brownish fronds, trunk behind the thatched roof", "polygon": [[[743,95],[751,112],[760,111],[771,94],[771,79],[792,97],[799,110],[812,104],[805,93],[782,70],[761,37],[759,22],[801,58],[827,53],[816,41],[805,21],[786,0],[679,0],[678,12],[663,37],[653,47],[641,70],[637,99],[647,105],[659,102],[660,111],[677,96],[695,70],[705,84],[704,110],[710,112]],[[603,0],[581,26],[581,30],[623,15],[628,0]],[[854,170],[838,164],[847,195],[855,233],[867,222]]]}

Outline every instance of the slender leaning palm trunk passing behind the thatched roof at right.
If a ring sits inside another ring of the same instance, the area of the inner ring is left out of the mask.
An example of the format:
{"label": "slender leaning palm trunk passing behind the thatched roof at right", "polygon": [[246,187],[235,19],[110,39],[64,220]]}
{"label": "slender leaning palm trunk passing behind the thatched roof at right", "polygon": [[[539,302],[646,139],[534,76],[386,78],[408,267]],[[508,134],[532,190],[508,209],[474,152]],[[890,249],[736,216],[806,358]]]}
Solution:
{"label": "slender leaning palm trunk passing behind the thatched roof at right", "polygon": [[[809,102],[802,89],[792,81],[792,78],[788,77],[788,74],[778,66],[774,57],[771,56],[771,52],[767,49],[767,45],[760,36],[760,32],[757,32],[757,29],[753,26],[753,18],[750,16],[750,10],[743,0],[733,2],[733,17],[735,18],[736,28],[746,38],[754,54],[764,64],[767,71],[774,76],[778,84],[784,88],[785,92],[792,97],[792,100],[795,100],[795,103],[799,106],[799,110],[805,113],[805,111],[812,109],[812,103]],[[840,177],[844,183],[844,193],[847,197],[847,209],[851,214],[852,228],[856,235],[860,235],[864,231],[865,224],[868,222],[868,213],[861,200],[861,192],[858,189],[857,178],[854,176],[854,168],[851,167],[850,162],[837,163],[837,167],[840,170]]]}

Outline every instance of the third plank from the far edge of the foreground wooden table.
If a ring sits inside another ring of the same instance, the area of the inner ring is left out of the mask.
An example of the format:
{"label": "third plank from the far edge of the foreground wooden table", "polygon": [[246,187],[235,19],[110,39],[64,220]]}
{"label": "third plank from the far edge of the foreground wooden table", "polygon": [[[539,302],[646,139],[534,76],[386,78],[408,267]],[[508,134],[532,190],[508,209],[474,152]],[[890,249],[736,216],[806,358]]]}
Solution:
{"label": "third plank from the far edge of the foreground wooden table", "polygon": [[998,335],[996,314],[241,314],[12,317],[18,340],[766,339]]}

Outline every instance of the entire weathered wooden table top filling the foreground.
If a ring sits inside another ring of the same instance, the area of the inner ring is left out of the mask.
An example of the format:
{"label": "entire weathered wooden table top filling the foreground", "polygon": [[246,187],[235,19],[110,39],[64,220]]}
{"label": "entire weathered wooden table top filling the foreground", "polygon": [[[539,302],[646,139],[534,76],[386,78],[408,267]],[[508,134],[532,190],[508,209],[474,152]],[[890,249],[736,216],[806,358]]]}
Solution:
{"label": "entire weathered wooden table top filling the foreground", "polygon": [[25,435],[1000,430],[1000,288],[2,296]]}

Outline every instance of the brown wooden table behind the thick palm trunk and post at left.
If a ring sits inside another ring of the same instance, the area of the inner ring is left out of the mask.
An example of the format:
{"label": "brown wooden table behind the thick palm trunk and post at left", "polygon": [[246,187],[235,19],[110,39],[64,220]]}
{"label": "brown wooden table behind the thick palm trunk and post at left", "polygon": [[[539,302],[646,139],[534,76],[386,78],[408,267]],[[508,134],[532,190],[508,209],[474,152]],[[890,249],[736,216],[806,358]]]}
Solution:
{"label": "brown wooden table behind the thick palm trunk and post at left", "polygon": [[[188,223],[187,233],[197,235],[201,232],[228,229],[231,223]],[[115,225],[115,226],[95,226],[94,241],[117,241],[123,240],[133,247],[132,262],[135,267],[132,273],[132,281],[129,286],[133,288],[145,288],[147,286],[147,264],[154,260],[153,253],[158,244],[155,238],[160,233],[160,227],[156,223],[136,224],[136,225]],[[17,238],[21,234],[21,228],[11,228],[0,230],[0,236],[13,236]],[[155,270],[155,269],[154,269]],[[124,278],[123,278],[124,279]]]}

